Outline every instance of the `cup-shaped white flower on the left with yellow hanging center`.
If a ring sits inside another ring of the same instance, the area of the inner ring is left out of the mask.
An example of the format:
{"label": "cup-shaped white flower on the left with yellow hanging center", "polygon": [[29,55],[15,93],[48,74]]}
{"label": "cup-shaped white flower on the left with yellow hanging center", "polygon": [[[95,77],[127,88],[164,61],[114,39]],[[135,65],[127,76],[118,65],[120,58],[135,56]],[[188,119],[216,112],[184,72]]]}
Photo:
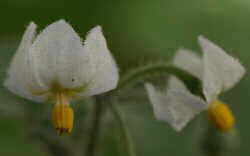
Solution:
{"label": "cup-shaped white flower on the left with yellow hanging center", "polygon": [[87,34],[83,44],[73,28],[59,20],[37,36],[36,25],[30,23],[4,85],[23,98],[52,101],[52,121],[61,134],[73,127],[71,100],[112,90],[118,78],[100,26]]}

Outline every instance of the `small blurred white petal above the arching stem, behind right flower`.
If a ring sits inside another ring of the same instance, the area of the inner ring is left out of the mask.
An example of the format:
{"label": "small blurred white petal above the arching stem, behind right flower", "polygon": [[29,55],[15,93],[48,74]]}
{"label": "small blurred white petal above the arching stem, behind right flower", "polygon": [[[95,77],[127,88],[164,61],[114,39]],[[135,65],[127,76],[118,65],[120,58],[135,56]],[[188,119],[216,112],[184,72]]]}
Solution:
{"label": "small blurred white petal above the arching stem, behind right flower", "polygon": [[203,64],[201,57],[196,53],[187,49],[179,49],[175,54],[173,63],[177,67],[186,70],[197,78],[202,78]]}

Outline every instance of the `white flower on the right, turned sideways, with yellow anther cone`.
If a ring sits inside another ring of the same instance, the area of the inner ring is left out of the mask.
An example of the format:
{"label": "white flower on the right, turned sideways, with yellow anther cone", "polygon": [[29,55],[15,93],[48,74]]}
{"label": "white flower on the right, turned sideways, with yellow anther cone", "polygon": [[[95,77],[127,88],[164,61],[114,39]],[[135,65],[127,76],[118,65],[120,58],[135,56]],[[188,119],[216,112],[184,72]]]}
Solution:
{"label": "white flower on the right, turned sideways, with yellow anther cone", "polygon": [[193,95],[176,77],[171,76],[167,90],[156,89],[152,84],[145,87],[157,119],[167,121],[180,131],[198,113],[207,110],[211,121],[222,132],[234,126],[234,116],[229,107],[219,100],[219,95],[231,89],[244,75],[244,67],[232,56],[206,38],[200,36],[203,51],[201,58],[189,50],[180,49],[173,61],[202,82],[205,98]]}

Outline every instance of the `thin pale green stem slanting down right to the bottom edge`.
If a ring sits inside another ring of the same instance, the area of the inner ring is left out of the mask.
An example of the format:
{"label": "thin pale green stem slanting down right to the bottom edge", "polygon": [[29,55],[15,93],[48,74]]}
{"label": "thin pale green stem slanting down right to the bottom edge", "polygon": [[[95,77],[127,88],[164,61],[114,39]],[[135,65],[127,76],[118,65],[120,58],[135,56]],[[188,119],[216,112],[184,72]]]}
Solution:
{"label": "thin pale green stem slanting down right to the bottom edge", "polygon": [[117,120],[117,122],[119,123],[121,132],[122,132],[122,136],[124,137],[124,142],[125,142],[125,148],[126,151],[128,153],[129,156],[136,156],[136,152],[134,149],[134,145],[132,142],[132,138],[129,134],[128,128],[122,118],[122,114],[121,112],[118,110],[118,108],[116,108],[116,106],[112,103],[110,103],[110,108],[111,111],[115,117],[115,119]]}

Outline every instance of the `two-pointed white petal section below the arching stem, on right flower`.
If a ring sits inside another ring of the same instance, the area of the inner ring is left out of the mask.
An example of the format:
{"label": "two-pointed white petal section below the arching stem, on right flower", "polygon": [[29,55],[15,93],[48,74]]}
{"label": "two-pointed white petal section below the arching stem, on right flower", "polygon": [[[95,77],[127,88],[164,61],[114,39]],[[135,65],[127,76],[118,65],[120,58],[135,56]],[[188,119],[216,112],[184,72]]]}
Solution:
{"label": "two-pointed white petal section below the arching stem, on right flower", "polygon": [[145,87],[156,118],[168,122],[176,131],[180,131],[207,105],[199,97],[192,95],[176,78],[171,77],[169,83],[171,85],[167,92],[159,91],[149,83]]}

